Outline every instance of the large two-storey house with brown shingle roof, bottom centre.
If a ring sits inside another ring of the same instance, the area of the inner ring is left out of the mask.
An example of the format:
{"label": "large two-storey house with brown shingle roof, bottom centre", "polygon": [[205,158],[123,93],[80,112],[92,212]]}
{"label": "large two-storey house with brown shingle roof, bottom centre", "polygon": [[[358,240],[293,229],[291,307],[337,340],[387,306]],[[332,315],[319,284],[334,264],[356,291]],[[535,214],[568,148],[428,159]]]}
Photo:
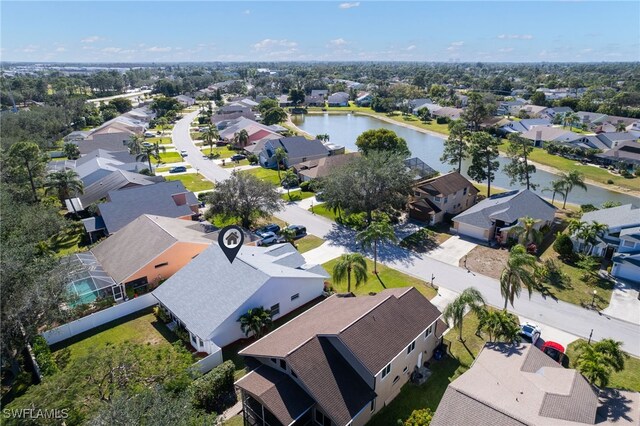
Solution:
{"label": "large two-storey house with brown shingle roof, bottom centre", "polygon": [[365,424],[431,358],[440,317],[413,287],[329,297],[240,351],[245,423]]}

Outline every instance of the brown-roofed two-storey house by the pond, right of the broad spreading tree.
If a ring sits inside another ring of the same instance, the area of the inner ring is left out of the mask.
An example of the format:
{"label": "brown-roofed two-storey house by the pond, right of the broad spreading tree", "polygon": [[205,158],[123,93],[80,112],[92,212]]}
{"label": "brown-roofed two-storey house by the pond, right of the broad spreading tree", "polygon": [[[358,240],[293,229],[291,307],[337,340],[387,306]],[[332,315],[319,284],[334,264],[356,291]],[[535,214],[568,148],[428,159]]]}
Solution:
{"label": "brown-roofed two-storey house by the pond, right of the broad spreading tree", "polygon": [[418,182],[413,186],[409,217],[435,225],[476,203],[478,190],[458,172]]}

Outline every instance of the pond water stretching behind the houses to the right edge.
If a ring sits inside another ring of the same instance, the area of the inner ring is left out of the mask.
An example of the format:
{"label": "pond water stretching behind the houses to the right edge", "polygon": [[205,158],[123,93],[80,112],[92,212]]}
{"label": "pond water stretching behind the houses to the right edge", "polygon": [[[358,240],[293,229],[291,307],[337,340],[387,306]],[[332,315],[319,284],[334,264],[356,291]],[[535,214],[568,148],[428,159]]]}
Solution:
{"label": "pond water stretching behind the houses to the right edge", "polygon": [[[356,139],[364,131],[384,127],[393,130],[407,141],[413,157],[418,157],[437,171],[446,173],[452,170],[449,164],[440,162],[444,147],[444,139],[440,136],[418,132],[413,129],[387,123],[373,117],[355,114],[308,114],[292,117],[293,122],[302,130],[312,135],[328,134],[331,142],[343,145],[350,151],[357,151]],[[510,179],[502,172],[502,167],[508,162],[500,157],[500,171],[496,173],[492,185],[500,188],[519,189],[519,185],[511,185]],[[463,162],[462,174],[466,176],[469,160]],[[536,192],[545,198],[551,198],[550,192],[541,192],[551,186],[551,181],[558,177],[552,173],[538,170],[532,176],[532,182],[538,185]],[[486,183],[486,182],[483,182]],[[587,185],[587,191],[576,188],[569,194],[567,202],[574,204],[593,204],[599,206],[605,201],[617,201],[622,204],[633,203],[640,205],[640,198],[618,192],[609,191],[593,185]]]}

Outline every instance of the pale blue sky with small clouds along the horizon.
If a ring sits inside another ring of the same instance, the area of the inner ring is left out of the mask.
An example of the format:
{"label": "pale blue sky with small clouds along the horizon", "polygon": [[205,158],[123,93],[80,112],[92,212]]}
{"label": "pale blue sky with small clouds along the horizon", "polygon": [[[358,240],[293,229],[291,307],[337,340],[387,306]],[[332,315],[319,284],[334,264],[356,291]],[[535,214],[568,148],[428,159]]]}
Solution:
{"label": "pale blue sky with small clouds along the horizon", "polygon": [[1,1],[6,61],[638,61],[638,1]]}

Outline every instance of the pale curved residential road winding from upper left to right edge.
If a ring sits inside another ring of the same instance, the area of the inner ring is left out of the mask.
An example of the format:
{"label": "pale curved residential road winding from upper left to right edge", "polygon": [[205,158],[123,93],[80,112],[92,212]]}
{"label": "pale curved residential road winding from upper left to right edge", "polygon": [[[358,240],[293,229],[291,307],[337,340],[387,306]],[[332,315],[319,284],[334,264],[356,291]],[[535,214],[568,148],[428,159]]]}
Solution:
{"label": "pale curved residential road winding from upper left to right edge", "polygon": [[[189,154],[185,161],[197,168],[212,182],[225,180],[230,172],[203,157],[200,150],[193,144],[189,135],[189,126],[197,117],[198,112],[186,115],[178,121],[173,130],[173,143],[178,150],[185,150]],[[302,224],[310,234],[317,235],[330,241],[335,246],[336,257],[345,250],[355,251],[353,231],[336,225],[334,222],[311,214],[296,204],[287,204],[285,209],[276,216],[285,222]],[[331,249],[333,250],[333,248]],[[502,308],[504,299],[500,295],[497,280],[484,275],[467,272],[466,269],[449,265],[438,260],[416,254],[398,246],[385,245],[380,248],[381,263],[401,272],[416,276],[424,281],[430,281],[435,276],[435,282],[447,290],[457,293],[467,287],[480,290],[487,303]],[[526,291],[520,299],[515,301],[510,311],[570,334],[589,338],[593,330],[594,340],[612,338],[624,342],[624,349],[634,356],[640,356],[640,325],[607,317],[604,314],[587,310],[579,306],[545,298],[539,293],[533,293],[531,299]]]}

